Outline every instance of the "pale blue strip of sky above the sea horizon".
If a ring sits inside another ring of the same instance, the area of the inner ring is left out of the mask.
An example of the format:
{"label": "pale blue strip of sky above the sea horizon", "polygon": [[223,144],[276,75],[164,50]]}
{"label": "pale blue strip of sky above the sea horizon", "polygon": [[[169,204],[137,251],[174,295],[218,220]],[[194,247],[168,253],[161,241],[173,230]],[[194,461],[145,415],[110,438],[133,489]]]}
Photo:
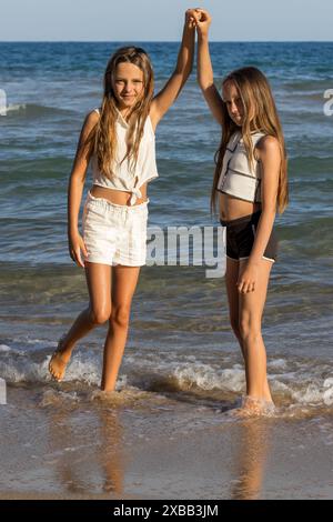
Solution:
{"label": "pale blue strip of sky above the sea horizon", "polygon": [[0,40],[174,41],[203,7],[211,40],[332,40],[333,0],[0,0]]}

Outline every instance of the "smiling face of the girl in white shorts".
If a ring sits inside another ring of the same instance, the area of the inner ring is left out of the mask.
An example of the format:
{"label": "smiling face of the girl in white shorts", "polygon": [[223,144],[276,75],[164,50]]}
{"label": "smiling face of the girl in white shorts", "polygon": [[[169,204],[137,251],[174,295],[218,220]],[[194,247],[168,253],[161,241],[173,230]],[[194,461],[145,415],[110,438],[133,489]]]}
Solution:
{"label": "smiling face of the girl in white shorts", "polygon": [[134,63],[118,63],[112,87],[119,110],[131,109],[143,96],[143,72]]}

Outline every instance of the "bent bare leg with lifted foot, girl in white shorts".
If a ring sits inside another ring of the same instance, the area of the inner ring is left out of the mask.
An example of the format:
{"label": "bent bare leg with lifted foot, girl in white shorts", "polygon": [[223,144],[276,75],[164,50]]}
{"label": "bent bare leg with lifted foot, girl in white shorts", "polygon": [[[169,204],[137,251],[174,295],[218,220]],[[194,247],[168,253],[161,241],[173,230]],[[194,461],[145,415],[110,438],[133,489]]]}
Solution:
{"label": "bent bare leg with lifted foot, girl in white shorts", "polygon": [[49,371],[57,381],[63,378],[77,342],[97,325],[108,321],[111,314],[111,267],[87,262],[85,279],[90,297],[89,307],[80,313],[69,332],[61,338],[49,364]]}

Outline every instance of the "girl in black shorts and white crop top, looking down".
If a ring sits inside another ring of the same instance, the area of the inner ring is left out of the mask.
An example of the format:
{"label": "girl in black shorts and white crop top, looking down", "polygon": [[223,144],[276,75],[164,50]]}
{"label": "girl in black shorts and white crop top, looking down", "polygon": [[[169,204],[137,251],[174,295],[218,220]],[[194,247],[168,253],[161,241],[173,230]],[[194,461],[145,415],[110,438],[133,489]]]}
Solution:
{"label": "girl in black shorts and white crop top, looking down", "polygon": [[211,205],[215,210],[219,195],[226,227],[230,321],[245,363],[246,395],[240,413],[261,414],[273,409],[261,320],[276,257],[275,213],[287,204],[284,139],[270,86],[256,68],[230,73],[220,96],[208,42],[211,17],[203,9],[191,14],[198,31],[198,80],[222,130]]}

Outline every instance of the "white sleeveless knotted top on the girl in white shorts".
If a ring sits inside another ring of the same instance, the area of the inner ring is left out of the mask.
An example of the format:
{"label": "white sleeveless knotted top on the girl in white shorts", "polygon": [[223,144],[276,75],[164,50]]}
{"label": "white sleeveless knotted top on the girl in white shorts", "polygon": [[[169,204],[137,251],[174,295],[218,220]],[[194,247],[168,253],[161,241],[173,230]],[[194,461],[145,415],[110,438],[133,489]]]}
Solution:
{"label": "white sleeveless knotted top on the girl in white shorts", "polygon": [[[100,113],[99,109],[94,109]],[[143,135],[139,147],[138,162],[132,169],[131,162],[122,161],[127,154],[127,133],[129,123],[124,120],[121,113],[118,113],[115,121],[117,133],[117,153],[115,161],[112,165],[112,179],[107,178],[98,165],[97,155],[91,158],[91,168],[93,184],[104,187],[113,190],[122,190],[131,192],[130,204],[134,204],[138,198],[142,198],[140,187],[148,181],[158,178],[158,168],[155,160],[155,134],[152,128],[150,117],[147,118],[143,128]]]}

